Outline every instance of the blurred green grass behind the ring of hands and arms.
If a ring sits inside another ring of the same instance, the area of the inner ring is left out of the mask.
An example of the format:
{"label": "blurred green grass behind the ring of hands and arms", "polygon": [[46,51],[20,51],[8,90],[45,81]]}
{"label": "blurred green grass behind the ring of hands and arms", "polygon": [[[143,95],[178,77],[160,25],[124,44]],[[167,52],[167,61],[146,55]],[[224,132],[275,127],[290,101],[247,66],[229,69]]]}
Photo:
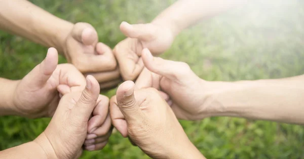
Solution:
{"label": "blurred green grass behind the ring of hands and arms", "polygon": [[[174,1],[32,0],[71,22],[91,23],[100,41],[113,48],[124,39],[122,21],[149,22]],[[0,31],[0,74],[20,79],[47,49]],[[202,78],[215,81],[280,78],[304,73],[304,2],[253,1],[183,31],[164,58],[185,61]],[[60,59],[63,63],[65,60]],[[115,91],[107,93],[111,96]],[[33,140],[49,119],[0,117],[0,150]],[[243,118],[181,121],[207,158],[304,158],[304,127]],[[101,151],[82,158],[148,158],[119,133]]]}

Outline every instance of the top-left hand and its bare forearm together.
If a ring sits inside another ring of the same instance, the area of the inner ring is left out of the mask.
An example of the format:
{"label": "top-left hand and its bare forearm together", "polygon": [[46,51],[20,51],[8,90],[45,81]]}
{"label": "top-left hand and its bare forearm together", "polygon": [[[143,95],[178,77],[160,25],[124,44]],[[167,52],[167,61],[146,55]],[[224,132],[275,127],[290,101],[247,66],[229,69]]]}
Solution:
{"label": "top-left hand and its bare forearm together", "polygon": [[112,50],[98,42],[94,27],[70,23],[26,0],[0,0],[0,29],[54,47],[85,75],[93,75],[101,89],[121,82]]}

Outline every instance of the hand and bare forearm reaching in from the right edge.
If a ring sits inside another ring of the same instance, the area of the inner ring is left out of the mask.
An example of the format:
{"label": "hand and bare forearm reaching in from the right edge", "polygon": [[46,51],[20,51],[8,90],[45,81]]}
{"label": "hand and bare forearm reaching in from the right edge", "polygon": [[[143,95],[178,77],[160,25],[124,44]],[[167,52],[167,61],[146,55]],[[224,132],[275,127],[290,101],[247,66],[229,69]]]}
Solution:
{"label": "hand and bare forearm reaching in from the right edge", "polygon": [[153,57],[144,49],[146,69],[136,88],[156,88],[169,96],[168,103],[182,120],[210,116],[245,117],[304,124],[304,75],[256,81],[212,82],[199,78],[184,62]]}

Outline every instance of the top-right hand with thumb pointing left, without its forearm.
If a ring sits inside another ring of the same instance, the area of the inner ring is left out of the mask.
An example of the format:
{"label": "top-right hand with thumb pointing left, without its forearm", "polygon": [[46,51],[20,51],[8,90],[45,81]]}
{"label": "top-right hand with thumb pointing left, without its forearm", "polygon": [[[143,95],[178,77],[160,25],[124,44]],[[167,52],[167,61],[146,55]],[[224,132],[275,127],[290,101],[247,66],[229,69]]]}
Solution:
{"label": "top-right hand with thumb pointing left, without its forearm", "polygon": [[143,68],[141,51],[148,48],[154,55],[169,49],[174,34],[168,27],[157,23],[134,24],[122,22],[121,31],[128,36],[113,50],[124,80],[134,80]]}

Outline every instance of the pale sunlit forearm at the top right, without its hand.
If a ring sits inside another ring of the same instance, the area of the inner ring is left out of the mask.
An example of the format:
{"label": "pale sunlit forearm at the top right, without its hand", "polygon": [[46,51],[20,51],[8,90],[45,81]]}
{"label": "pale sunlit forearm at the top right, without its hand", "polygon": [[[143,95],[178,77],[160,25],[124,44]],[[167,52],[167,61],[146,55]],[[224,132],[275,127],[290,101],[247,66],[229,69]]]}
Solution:
{"label": "pale sunlit forearm at the top right, without its hand", "polygon": [[246,0],[180,0],[159,14],[153,23],[171,28],[174,35],[204,18],[213,17]]}

